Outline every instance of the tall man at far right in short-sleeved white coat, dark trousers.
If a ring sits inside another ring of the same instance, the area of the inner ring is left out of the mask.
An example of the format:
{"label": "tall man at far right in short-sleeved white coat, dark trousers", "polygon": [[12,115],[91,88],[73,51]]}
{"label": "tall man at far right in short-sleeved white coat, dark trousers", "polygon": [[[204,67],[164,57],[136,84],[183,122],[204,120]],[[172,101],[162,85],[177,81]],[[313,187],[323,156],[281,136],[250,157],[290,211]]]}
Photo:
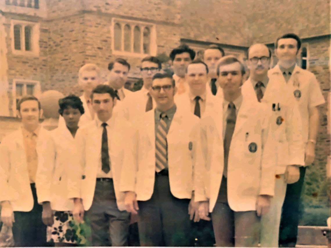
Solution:
{"label": "tall man at far right in short-sleeved white coat, dark trousers", "polygon": [[302,137],[305,144],[305,166],[301,166],[300,179],[287,185],[280,222],[279,245],[295,247],[298,234],[299,204],[306,166],[315,158],[316,137],[319,127],[318,106],[325,103],[321,89],[313,73],[296,64],[300,54],[301,40],[296,34],[284,34],[275,42],[278,64],[269,73],[269,79],[284,85],[298,104],[302,123]]}

